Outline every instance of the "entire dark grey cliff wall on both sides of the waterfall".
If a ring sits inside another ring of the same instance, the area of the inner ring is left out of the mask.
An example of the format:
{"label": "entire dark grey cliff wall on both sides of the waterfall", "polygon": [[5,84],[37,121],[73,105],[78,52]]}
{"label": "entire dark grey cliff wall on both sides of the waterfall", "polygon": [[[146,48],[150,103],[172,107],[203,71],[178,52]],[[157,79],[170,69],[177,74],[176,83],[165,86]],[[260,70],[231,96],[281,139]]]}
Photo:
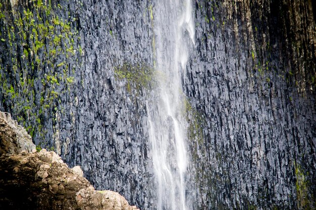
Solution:
{"label": "entire dark grey cliff wall on both sides of the waterfall", "polygon": [[[314,207],[311,1],[193,4],[183,88],[196,205]],[[153,208],[154,1],[1,1],[0,17],[1,109],[95,187]]]}

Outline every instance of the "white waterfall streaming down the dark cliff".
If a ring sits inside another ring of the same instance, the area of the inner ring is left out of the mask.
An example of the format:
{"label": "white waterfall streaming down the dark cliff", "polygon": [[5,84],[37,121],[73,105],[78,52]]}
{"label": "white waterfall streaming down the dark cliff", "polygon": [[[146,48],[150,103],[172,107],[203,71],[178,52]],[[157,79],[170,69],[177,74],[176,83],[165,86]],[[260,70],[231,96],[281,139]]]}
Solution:
{"label": "white waterfall streaming down the dark cliff", "polygon": [[157,209],[187,209],[186,120],[181,77],[194,44],[191,1],[164,0],[154,6],[155,95],[147,102],[149,138],[157,187]]}

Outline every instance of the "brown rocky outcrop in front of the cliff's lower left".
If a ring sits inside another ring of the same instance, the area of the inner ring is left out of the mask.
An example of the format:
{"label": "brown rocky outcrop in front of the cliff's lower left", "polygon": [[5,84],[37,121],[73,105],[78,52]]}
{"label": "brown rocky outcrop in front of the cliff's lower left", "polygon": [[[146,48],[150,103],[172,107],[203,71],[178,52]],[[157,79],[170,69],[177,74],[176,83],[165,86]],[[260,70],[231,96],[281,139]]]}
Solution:
{"label": "brown rocky outcrop in front of the cliff's lower left", "polygon": [[[32,150],[31,153],[27,150],[17,152],[17,148],[20,149],[17,141],[23,138],[17,139],[16,136],[25,130],[21,126],[14,128],[3,116],[0,115],[0,138],[3,143],[0,209],[137,209],[116,192],[94,190],[82,176],[80,167],[68,168],[55,152],[45,149],[40,152]],[[28,146],[32,144],[31,138],[24,141],[28,142]],[[4,144],[8,142],[12,144]],[[30,148],[33,147],[34,144]]]}

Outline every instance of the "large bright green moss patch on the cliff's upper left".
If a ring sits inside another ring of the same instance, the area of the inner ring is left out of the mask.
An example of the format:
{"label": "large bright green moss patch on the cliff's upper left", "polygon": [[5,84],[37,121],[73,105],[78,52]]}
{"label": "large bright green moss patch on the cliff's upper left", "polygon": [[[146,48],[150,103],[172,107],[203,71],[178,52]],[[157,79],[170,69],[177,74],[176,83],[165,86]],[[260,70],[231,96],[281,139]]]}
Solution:
{"label": "large bright green moss patch on the cliff's upper left", "polygon": [[[6,60],[13,63],[13,73],[5,70],[7,64],[0,63],[3,103],[12,109],[13,115],[23,116],[19,118],[20,122],[28,127],[32,135],[37,132],[37,136],[43,140],[45,131],[39,116],[43,113],[49,116],[61,94],[70,93],[70,89],[59,93],[58,86],[73,82],[75,72],[72,69],[81,62],[82,54],[74,50],[78,48],[80,40],[76,28],[71,27],[75,17],[63,20],[59,14],[64,11],[54,7],[50,0],[33,0],[28,4],[20,4],[18,9],[22,13],[11,11],[10,3],[4,0],[0,0],[0,5],[3,24],[0,38],[2,42],[8,42],[7,45],[3,44],[0,51],[5,53]],[[61,68],[66,69],[64,74],[60,74]],[[16,75],[20,76],[19,80],[16,80]],[[34,79],[35,84],[36,81],[42,84],[36,95]]]}

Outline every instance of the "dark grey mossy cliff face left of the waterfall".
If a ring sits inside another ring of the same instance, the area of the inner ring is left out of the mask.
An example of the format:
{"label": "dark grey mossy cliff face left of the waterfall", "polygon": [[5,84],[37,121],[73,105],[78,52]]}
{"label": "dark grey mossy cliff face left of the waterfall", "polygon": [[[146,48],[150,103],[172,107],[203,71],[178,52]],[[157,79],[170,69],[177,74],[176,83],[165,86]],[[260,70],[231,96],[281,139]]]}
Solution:
{"label": "dark grey mossy cliff face left of the waterfall", "polygon": [[[0,107],[95,187],[149,203],[139,102],[152,64],[149,3],[1,3]],[[125,85],[129,66],[143,78]]]}

